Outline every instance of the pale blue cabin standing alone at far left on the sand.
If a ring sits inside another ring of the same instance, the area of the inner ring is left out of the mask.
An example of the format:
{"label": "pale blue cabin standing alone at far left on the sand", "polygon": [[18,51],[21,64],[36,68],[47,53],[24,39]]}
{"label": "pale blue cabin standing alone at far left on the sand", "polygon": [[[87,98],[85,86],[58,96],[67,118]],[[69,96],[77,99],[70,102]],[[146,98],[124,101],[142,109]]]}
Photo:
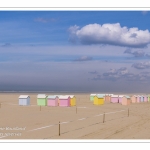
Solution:
{"label": "pale blue cabin standing alone at far left on the sand", "polygon": [[21,106],[30,105],[30,97],[29,97],[29,95],[20,95],[19,96],[19,105],[21,105]]}

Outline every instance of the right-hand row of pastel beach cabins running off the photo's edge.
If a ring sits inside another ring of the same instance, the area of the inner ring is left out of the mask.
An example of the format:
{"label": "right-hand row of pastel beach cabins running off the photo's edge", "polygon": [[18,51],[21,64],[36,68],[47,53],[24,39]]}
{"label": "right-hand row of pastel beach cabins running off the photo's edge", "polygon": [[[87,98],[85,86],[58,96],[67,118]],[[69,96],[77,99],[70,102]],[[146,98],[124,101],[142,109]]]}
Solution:
{"label": "right-hand row of pastel beach cabins running off the photo's edge", "polygon": [[114,95],[114,94],[91,94],[90,101],[95,105],[104,104],[104,101],[130,105],[130,103],[150,102],[149,95]]}

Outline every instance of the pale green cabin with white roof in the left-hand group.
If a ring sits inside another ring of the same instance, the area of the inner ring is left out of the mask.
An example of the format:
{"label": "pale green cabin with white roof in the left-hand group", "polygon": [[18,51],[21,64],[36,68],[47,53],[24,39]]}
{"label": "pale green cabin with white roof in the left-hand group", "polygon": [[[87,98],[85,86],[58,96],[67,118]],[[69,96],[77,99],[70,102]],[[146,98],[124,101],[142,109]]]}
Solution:
{"label": "pale green cabin with white roof in the left-hand group", "polygon": [[37,95],[37,105],[47,106],[47,96],[45,94],[38,94]]}

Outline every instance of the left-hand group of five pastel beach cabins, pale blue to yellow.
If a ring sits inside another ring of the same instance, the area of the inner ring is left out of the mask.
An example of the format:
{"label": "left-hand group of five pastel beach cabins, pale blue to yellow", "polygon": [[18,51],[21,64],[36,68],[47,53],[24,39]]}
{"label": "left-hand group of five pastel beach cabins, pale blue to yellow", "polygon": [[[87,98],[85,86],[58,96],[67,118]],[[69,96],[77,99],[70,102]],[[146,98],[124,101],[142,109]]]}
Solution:
{"label": "left-hand group of five pastel beach cabins, pale blue to yellow", "polygon": [[[29,95],[19,96],[19,105],[30,105]],[[38,106],[75,106],[76,97],[74,95],[49,95],[38,94],[37,95],[37,105]]]}

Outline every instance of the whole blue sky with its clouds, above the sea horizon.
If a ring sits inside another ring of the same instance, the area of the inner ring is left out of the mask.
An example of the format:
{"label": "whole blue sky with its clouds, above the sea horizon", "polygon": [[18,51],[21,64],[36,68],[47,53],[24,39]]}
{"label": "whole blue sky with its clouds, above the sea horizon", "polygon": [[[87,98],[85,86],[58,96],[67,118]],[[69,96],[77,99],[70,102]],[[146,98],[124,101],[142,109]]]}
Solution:
{"label": "whole blue sky with its clouds, above the sea horizon", "polygon": [[150,12],[0,11],[0,91],[150,92]]}

